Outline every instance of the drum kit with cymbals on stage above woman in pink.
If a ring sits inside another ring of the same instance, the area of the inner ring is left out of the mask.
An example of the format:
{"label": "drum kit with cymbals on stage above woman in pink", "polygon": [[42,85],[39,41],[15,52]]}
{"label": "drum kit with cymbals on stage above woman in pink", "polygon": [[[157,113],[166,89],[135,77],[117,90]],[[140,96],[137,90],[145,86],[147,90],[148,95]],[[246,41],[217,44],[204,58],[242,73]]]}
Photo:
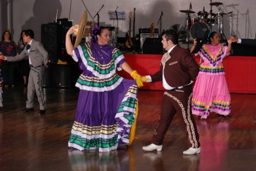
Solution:
{"label": "drum kit with cymbals on stage above woman in pink", "polygon": [[[217,31],[220,33],[221,41],[225,41],[226,37],[223,33],[223,15],[232,14],[230,13],[224,13],[221,9],[221,5],[223,3],[215,2],[210,3],[211,10],[210,12],[207,12],[204,10],[198,11],[197,13],[195,11],[191,10],[191,4],[189,10],[180,10],[182,13],[186,13],[186,26],[184,28],[184,31],[186,32],[186,42],[189,44],[189,37],[192,38],[202,38],[205,39],[209,33],[209,31]],[[212,13],[212,6],[216,6],[218,8],[218,13]],[[197,17],[191,18],[190,14],[196,13]],[[230,19],[231,20],[231,19]],[[218,26],[218,27],[216,27]],[[231,27],[231,24],[230,24]],[[230,29],[231,30],[231,29]],[[179,33],[182,35],[184,34],[184,31],[180,31]],[[188,45],[189,46],[189,45]]]}

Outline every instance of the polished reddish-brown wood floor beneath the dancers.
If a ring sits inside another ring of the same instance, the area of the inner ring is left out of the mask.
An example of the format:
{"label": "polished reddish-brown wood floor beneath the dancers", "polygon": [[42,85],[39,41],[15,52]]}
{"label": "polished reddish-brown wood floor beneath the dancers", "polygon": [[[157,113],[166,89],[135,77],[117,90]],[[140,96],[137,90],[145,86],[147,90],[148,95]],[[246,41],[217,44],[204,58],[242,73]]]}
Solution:
{"label": "polished reddish-brown wood floor beneath the dancers", "polygon": [[[232,118],[198,120],[202,151],[188,149],[184,123],[175,115],[163,151],[145,152],[143,145],[157,126],[163,91],[140,91],[136,139],[117,151],[77,151],[68,148],[78,90],[45,88],[47,113],[24,114],[26,88],[3,89],[0,108],[0,170],[255,170],[256,94],[231,94]],[[36,99],[35,99],[36,100]]]}

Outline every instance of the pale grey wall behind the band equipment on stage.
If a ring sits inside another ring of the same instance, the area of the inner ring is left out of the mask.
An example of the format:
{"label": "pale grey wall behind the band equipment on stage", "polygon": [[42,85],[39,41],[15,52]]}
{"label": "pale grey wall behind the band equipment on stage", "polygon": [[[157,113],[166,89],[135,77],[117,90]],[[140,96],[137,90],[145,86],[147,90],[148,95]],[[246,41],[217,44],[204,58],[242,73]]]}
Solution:
{"label": "pale grey wall behind the band equipment on stage", "polygon": [[[70,8],[71,2],[71,8]],[[150,26],[154,22],[155,28],[163,11],[163,29],[169,29],[173,24],[185,25],[186,13],[180,10],[188,10],[190,1],[186,0],[13,0],[13,40],[19,40],[19,34],[22,29],[31,28],[35,31],[35,39],[41,38],[41,25],[53,22],[56,19],[56,9],[58,9],[58,19],[68,18],[73,20],[73,24],[79,23],[81,15],[83,15],[84,4],[88,8],[88,12],[95,16],[99,12],[100,25],[108,25],[116,27],[116,20],[110,20],[108,11],[125,11],[126,20],[118,22],[118,36],[125,36],[129,30],[129,12],[135,10],[135,33],[138,34],[140,27]],[[255,0],[226,0],[218,1],[223,3],[225,13],[233,11],[232,33],[241,38],[255,38],[256,32],[256,3]],[[195,0],[191,1],[192,10],[196,13],[202,11],[210,11],[211,1]],[[232,5],[234,4],[234,5]],[[3,4],[2,4],[3,5]],[[212,12],[218,13],[218,8],[212,6]],[[196,13],[191,17],[196,17]],[[224,15],[224,33],[228,38],[230,36],[229,15]],[[92,20],[88,15],[88,20]],[[95,17],[97,22],[97,17]],[[133,25],[133,17],[132,17]],[[132,26],[133,27],[133,26]],[[132,28],[131,27],[131,28]]]}

